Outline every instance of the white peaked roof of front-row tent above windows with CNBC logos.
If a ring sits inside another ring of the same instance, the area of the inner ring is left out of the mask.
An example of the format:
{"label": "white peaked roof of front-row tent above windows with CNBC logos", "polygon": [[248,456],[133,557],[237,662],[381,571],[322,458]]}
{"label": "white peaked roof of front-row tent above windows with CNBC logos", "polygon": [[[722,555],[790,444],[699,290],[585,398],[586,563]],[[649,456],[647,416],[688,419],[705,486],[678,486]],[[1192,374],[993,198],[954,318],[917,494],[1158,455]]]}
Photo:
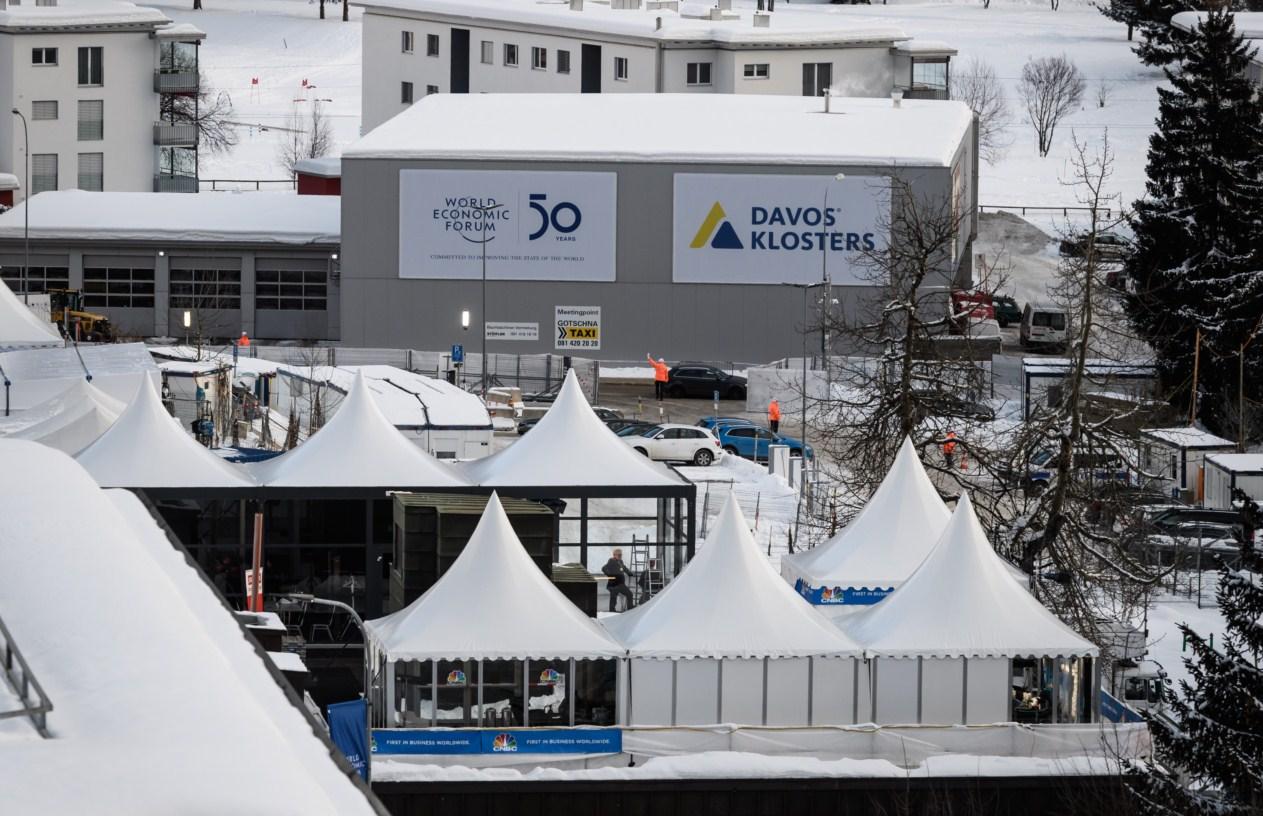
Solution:
{"label": "white peaked roof of front-row tent above windows with CNBC logos", "polygon": [[365,628],[392,662],[624,656],[623,647],[539,571],[494,493],[443,577],[407,608]]}

